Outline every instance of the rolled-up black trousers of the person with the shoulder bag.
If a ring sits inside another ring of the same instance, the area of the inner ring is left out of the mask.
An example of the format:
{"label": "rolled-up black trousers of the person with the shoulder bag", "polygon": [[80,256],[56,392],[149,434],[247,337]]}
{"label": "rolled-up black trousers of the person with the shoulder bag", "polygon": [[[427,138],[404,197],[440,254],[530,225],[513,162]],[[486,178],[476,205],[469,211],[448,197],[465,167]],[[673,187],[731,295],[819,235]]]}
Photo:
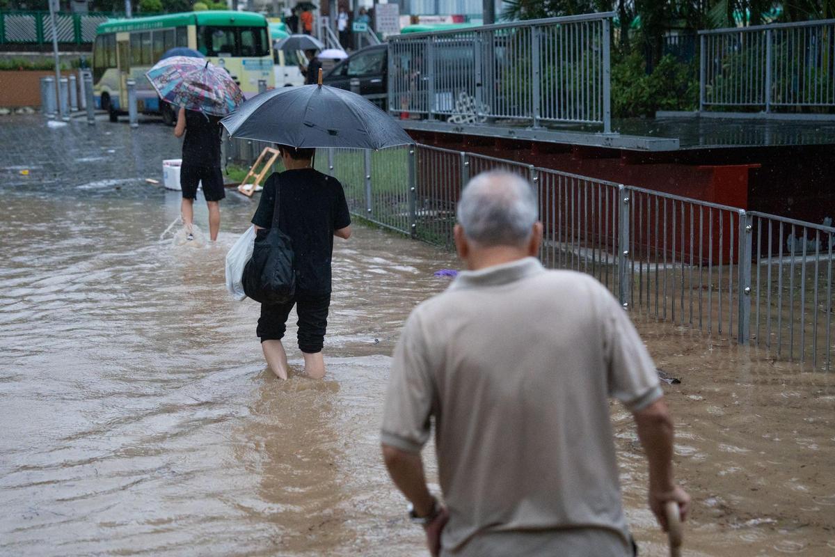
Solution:
{"label": "rolled-up black trousers of the person with the shoulder bag", "polygon": [[330,294],[296,293],[286,304],[261,304],[256,334],[261,337],[261,342],[280,341],[284,338],[287,317],[294,305],[299,316],[299,349],[308,354],[321,352],[325,342],[327,311],[331,306]]}

